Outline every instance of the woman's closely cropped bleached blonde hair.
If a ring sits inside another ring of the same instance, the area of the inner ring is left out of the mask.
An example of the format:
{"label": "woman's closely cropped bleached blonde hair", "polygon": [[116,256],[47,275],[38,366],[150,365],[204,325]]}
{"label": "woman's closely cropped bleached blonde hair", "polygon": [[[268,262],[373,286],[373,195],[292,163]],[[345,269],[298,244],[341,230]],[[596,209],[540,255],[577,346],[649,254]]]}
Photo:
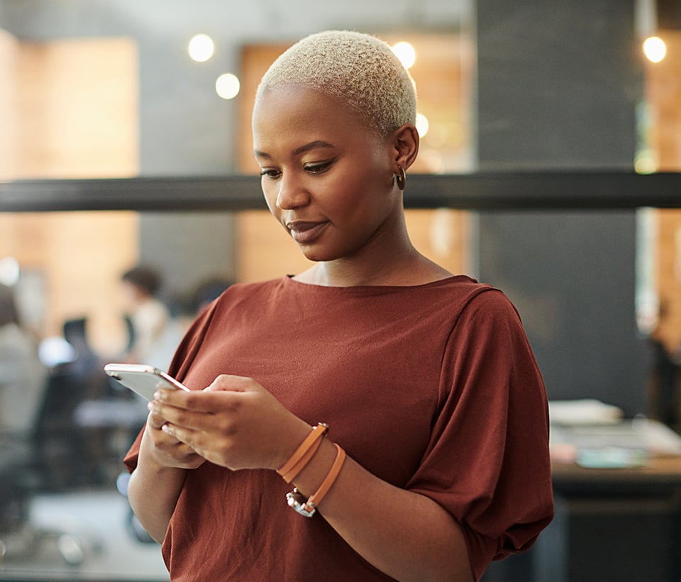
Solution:
{"label": "woman's closely cropped bleached blonde hair", "polygon": [[299,40],[263,75],[255,103],[267,89],[300,85],[350,106],[384,137],[416,122],[416,92],[409,72],[380,38],[353,31],[325,31]]}

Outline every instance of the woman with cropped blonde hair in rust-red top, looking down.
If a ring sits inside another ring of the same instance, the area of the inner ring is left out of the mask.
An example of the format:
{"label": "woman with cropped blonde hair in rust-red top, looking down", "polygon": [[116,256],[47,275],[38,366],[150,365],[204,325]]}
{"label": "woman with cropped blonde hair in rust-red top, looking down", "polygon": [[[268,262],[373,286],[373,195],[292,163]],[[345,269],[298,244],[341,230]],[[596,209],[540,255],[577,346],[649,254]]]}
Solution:
{"label": "woman with cropped blonde hair in rust-red top, looking down", "polygon": [[230,287],[171,366],[193,391],[150,403],[129,495],[172,579],[468,581],[550,521],[519,317],[406,232],[415,115],[368,35],[311,35],[263,77],[262,190],[315,264]]}

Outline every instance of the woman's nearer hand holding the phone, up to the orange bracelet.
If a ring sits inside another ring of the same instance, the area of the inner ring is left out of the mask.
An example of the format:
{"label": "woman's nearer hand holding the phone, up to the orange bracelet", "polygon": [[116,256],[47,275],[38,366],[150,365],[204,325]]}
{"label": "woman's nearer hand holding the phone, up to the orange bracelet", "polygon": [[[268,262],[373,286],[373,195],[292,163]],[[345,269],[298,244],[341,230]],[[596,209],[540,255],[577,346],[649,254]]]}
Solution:
{"label": "woman's nearer hand holding the phone, up to the orange bracelet", "polygon": [[[160,390],[153,415],[162,419],[168,439],[162,450],[173,459],[191,449],[233,470],[279,468],[311,430],[255,380],[234,375],[220,375],[201,391]],[[192,461],[187,454],[185,462]]]}

